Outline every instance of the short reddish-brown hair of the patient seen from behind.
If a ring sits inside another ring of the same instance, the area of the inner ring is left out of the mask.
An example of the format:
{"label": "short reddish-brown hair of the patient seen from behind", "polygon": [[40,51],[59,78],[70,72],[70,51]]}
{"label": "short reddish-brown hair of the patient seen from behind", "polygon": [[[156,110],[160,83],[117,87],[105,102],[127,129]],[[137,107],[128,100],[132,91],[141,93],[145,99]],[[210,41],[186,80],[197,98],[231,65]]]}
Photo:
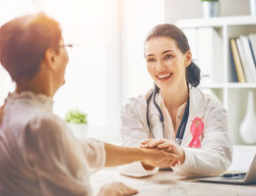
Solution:
{"label": "short reddish-brown hair of the patient seen from behind", "polygon": [[60,25],[43,13],[15,18],[0,27],[0,63],[16,82],[32,79],[45,51],[59,52]]}

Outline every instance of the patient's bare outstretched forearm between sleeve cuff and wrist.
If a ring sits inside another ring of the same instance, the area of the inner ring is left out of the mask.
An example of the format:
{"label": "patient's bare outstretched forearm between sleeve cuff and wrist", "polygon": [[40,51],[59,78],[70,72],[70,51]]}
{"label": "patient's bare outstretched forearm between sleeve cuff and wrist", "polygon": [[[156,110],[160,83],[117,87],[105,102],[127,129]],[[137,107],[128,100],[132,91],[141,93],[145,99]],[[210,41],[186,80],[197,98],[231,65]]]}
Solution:
{"label": "patient's bare outstretched forearm between sleeve cuff and wrist", "polygon": [[141,148],[116,146],[104,143],[105,165],[104,167],[115,167],[126,165],[137,161],[144,161],[147,151]]}

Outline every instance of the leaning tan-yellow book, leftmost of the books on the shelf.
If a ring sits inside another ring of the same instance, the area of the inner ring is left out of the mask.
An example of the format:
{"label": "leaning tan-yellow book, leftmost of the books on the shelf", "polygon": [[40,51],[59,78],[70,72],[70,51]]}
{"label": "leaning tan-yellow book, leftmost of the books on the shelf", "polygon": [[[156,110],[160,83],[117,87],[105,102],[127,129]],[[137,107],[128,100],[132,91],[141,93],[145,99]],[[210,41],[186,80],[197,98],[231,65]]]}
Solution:
{"label": "leaning tan-yellow book, leftmost of the books on the shelf", "polygon": [[246,82],[244,72],[243,72],[242,63],[240,60],[240,56],[239,56],[234,38],[230,39],[230,48],[231,48],[231,54],[232,54],[234,68],[235,68],[235,71],[237,74],[238,82]]}

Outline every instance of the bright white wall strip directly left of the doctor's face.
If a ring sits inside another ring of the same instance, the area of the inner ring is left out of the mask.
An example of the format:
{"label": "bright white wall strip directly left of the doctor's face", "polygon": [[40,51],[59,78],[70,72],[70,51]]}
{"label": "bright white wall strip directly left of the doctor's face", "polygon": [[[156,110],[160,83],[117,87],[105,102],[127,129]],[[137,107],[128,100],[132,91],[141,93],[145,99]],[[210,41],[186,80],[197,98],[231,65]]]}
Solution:
{"label": "bright white wall strip directly left of the doctor's face", "polygon": [[154,25],[164,23],[164,0],[122,0],[120,52],[122,101],[153,86],[144,59],[144,40]]}

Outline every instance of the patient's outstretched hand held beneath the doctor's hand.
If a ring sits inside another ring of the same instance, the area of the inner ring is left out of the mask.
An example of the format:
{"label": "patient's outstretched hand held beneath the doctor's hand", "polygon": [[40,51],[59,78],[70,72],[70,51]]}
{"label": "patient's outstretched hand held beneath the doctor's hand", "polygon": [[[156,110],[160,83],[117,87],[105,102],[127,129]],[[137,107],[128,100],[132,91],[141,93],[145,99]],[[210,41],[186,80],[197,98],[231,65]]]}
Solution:
{"label": "patient's outstretched hand held beneath the doctor's hand", "polygon": [[155,167],[169,168],[176,165],[178,156],[172,152],[160,149],[146,149],[142,159],[142,165],[146,170],[153,170]]}

